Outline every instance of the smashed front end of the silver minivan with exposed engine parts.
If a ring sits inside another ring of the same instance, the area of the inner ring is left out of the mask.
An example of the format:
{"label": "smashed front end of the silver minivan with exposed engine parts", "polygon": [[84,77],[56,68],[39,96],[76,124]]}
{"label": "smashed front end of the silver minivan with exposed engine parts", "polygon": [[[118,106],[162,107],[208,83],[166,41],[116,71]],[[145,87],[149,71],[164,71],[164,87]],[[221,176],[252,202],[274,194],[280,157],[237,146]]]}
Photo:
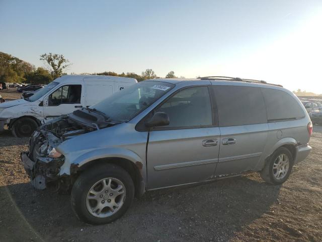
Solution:
{"label": "smashed front end of the silver minivan with exposed engine parts", "polygon": [[40,190],[50,185],[59,189],[61,184],[65,184],[66,179],[69,180],[70,177],[60,176],[64,156],[56,151],[56,147],[71,136],[93,130],[64,115],[35,131],[29,140],[29,151],[21,153],[21,160],[31,179],[31,184]]}

